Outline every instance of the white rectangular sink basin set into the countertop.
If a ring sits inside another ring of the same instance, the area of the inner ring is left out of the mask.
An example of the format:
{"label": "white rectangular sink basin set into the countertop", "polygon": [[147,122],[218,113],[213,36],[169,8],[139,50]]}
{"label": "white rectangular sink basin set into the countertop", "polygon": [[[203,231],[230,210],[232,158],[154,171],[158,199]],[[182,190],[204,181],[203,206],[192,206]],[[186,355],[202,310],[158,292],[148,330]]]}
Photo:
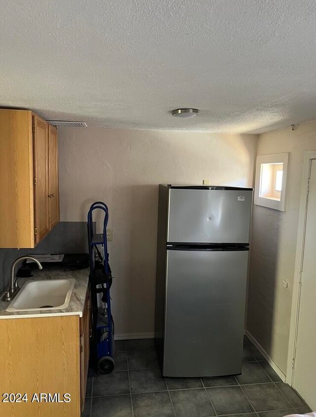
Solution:
{"label": "white rectangular sink basin set into the countertop", "polygon": [[27,281],[12,300],[6,311],[67,308],[74,285],[74,278]]}

